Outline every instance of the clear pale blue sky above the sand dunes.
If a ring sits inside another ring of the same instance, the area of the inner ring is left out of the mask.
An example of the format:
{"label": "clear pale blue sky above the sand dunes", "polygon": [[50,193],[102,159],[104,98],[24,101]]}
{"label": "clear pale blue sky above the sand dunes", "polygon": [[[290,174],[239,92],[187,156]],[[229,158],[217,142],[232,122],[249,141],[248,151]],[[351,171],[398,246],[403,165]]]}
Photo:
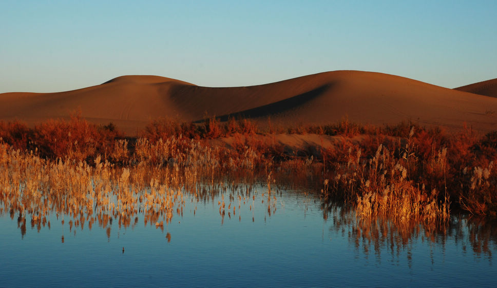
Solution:
{"label": "clear pale blue sky above the sand dunes", "polygon": [[333,70],[497,78],[497,1],[0,0],[0,92],[151,74],[249,86]]}

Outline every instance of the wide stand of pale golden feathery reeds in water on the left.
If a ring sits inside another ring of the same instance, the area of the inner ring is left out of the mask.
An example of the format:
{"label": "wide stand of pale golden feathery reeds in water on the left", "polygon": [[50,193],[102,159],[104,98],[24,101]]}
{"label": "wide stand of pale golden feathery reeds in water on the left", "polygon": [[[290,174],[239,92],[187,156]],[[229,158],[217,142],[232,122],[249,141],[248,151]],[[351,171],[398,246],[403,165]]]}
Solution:
{"label": "wide stand of pale golden feathery reeds in water on the left", "polygon": [[[121,149],[124,144],[116,143],[115,147]],[[187,149],[179,151],[179,145]],[[259,200],[253,192],[255,178],[252,182],[244,181],[246,190],[242,193],[238,182],[226,181],[218,172],[222,169],[219,153],[218,149],[202,146],[195,140],[185,143],[174,137],[157,142],[139,139],[132,159],[121,166],[118,162],[102,161],[100,155],[91,164],[69,157],[46,159],[37,155],[37,151],[21,151],[3,143],[0,145],[0,203],[3,206],[0,213],[6,211],[12,219],[17,216],[23,235],[26,221],[38,230],[45,225],[50,227],[47,220],[50,214],[56,214],[62,224],[68,223],[70,231],[77,227],[83,229],[85,223],[91,229],[96,221],[105,228],[112,219],[119,221],[120,227],[127,227],[136,224],[139,214],[143,215],[145,225],[155,224],[163,230],[174,215],[183,215],[188,199],[214,201],[215,196],[222,194],[221,221],[225,216],[231,219],[237,215],[241,220],[240,210],[245,207],[252,211],[255,201]],[[122,157],[123,153],[112,153],[111,158],[116,155]],[[241,169],[254,166],[253,156],[230,159]],[[277,195],[271,193],[269,182],[265,193],[260,201],[267,205],[271,216],[276,212]]]}

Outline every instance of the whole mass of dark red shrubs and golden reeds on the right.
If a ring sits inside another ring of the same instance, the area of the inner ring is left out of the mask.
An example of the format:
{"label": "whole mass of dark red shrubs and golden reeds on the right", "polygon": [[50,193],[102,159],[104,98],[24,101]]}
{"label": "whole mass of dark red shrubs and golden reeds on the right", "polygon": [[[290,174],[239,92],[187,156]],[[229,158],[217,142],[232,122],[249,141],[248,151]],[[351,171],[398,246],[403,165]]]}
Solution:
{"label": "whole mass of dark red shrubs and golden reeds on the right", "polygon": [[[324,151],[323,197],[354,202],[362,217],[436,222],[446,221],[450,209],[495,217],[495,142],[482,146],[488,135],[427,134],[412,127],[405,138],[368,136]],[[375,152],[372,140],[379,142]]]}

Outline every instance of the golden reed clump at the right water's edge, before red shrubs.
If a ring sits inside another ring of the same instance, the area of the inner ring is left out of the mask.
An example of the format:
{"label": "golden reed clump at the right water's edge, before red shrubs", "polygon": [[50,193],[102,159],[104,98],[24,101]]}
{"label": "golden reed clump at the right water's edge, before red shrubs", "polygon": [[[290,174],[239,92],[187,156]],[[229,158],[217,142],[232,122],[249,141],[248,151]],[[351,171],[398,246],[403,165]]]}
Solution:
{"label": "golden reed clump at the right water's edge, before red shrubs", "polygon": [[[370,159],[360,157],[361,150],[352,155],[348,151],[347,163],[335,163],[334,177],[324,180],[324,197],[341,197],[355,201],[359,216],[371,218],[389,216],[397,222],[407,220],[444,221],[449,218],[449,196],[427,191],[408,177],[407,153],[397,158],[383,145]],[[437,158],[437,165],[445,164],[445,154]],[[441,168],[444,169],[444,168]],[[328,193],[334,193],[330,195]]]}

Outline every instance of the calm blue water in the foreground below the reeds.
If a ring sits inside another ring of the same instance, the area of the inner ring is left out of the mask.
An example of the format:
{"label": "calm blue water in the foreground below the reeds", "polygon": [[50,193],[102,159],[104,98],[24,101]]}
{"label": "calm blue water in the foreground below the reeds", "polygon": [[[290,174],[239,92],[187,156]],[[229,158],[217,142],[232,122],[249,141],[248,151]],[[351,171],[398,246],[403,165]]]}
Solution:
{"label": "calm blue water in the foreground below the reeds", "polygon": [[139,214],[129,225],[70,228],[51,214],[50,228],[26,221],[24,233],[4,211],[0,286],[497,285],[492,223],[454,218],[434,231],[361,223],[340,208],[323,212],[305,191],[268,198],[263,186],[250,196],[224,192],[223,217],[222,195],[187,198],[163,227]]}

